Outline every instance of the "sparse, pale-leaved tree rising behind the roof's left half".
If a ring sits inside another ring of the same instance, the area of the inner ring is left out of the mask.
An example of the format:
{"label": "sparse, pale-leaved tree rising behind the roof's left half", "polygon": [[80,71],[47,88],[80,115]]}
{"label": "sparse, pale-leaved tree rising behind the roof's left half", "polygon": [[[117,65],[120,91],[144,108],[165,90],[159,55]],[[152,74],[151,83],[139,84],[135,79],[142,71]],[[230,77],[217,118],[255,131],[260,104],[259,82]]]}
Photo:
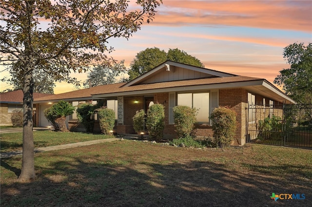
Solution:
{"label": "sparse, pale-leaved tree rising behind the roof's left half", "polygon": [[83,86],[89,88],[117,83],[117,76],[125,70],[124,60],[120,61],[120,63],[115,63],[111,68],[96,66],[88,74],[88,79],[84,82]]}

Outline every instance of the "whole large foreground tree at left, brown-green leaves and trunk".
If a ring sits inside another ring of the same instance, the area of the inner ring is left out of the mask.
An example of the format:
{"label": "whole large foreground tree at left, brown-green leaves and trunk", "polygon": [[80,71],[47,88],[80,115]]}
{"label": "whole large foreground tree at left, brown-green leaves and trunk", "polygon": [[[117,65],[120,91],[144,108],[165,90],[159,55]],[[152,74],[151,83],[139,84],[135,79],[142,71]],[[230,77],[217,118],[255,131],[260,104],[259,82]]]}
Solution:
{"label": "whole large foreground tree at left, brown-green leaves and trunk", "polygon": [[[131,5],[129,5],[131,3]],[[161,0],[0,0],[0,64],[23,83],[23,155],[19,179],[35,178],[33,91],[36,69],[75,83],[72,71],[110,66],[110,38],[129,38]],[[45,22],[45,24],[41,24]]]}

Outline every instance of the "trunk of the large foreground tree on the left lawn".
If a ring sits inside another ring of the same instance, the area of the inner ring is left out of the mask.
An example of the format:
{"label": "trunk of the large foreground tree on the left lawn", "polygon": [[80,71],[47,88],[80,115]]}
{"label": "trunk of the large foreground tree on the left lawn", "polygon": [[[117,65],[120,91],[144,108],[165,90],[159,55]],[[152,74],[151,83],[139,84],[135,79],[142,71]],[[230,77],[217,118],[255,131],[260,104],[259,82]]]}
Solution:
{"label": "trunk of the large foreground tree on the left lawn", "polygon": [[32,73],[24,76],[23,88],[23,154],[19,180],[24,182],[36,177],[34,161],[33,135],[33,77]]}

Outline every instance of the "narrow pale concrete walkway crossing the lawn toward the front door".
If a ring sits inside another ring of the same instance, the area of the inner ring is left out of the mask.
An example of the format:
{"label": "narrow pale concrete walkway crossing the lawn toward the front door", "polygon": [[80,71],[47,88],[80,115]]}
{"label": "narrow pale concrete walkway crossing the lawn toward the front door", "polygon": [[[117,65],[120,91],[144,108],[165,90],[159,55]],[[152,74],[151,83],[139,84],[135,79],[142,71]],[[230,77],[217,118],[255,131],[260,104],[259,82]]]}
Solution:
{"label": "narrow pale concrete walkway crossing the lawn toward the front door", "polygon": [[[91,145],[91,144],[98,144],[102,142],[116,141],[120,139],[121,138],[107,138],[107,139],[83,141],[83,142],[77,142],[77,143],[71,143],[71,144],[62,144],[62,145],[56,145],[56,146],[50,146],[50,147],[40,147],[40,148],[34,149],[34,152],[40,153],[40,152],[53,151],[53,150],[62,150],[62,149],[81,147],[81,146],[86,146],[86,145]],[[20,151],[14,151],[14,152],[1,153],[0,158],[6,158],[6,157],[11,157],[11,156],[17,156],[17,155],[22,155],[22,151],[20,150]]]}

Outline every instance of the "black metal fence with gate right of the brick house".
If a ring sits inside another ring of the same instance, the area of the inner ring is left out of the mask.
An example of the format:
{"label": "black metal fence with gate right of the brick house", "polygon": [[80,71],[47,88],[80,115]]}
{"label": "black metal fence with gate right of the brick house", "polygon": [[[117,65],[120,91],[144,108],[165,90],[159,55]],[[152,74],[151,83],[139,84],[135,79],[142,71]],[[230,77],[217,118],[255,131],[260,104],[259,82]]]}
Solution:
{"label": "black metal fence with gate right of the brick house", "polygon": [[246,143],[312,148],[312,104],[248,105]]}

